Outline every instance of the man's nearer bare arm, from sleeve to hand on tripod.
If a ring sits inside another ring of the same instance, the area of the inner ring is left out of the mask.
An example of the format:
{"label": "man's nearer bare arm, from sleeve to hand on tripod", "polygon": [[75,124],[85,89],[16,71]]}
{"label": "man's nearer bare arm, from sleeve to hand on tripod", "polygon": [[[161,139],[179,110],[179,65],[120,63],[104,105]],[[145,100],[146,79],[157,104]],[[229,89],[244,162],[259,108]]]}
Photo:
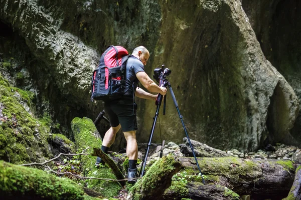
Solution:
{"label": "man's nearer bare arm, from sleeve to hand on tripod", "polygon": [[158,92],[162,95],[166,94],[167,89],[165,87],[159,87],[144,71],[137,72],[136,77],[148,91]]}

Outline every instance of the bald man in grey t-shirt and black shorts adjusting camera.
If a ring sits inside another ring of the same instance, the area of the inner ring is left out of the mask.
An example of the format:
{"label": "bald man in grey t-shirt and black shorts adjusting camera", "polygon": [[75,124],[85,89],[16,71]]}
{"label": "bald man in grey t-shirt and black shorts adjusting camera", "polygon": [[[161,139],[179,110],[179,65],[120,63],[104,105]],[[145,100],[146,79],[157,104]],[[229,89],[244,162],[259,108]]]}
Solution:
{"label": "bald man in grey t-shirt and black shorts adjusting camera", "polygon": [[[136,142],[137,105],[134,101],[134,96],[145,99],[156,100],[158,94],[151,94],[140,87],[138,82],[150,92],[161,93],[165,95],[167,89],[159,87],[144,71],[144,65],[149,58],[149,52],[144,46],[136,47],[129,56],[126,64],[126,74],[124,82],[129,89],[124,93],[121,99],[104,103],[104,109],[109,116],[111,127],[105,133],[102,141],[101,149],[107,153],[109,147],[115,140],[116,133],[122,127],[126,139],[126,155],[128,157],[129,168],[127,177],[137,177],[137,156],[138,148]],[[95,165],[104,164],[100,157],[97,157]],[[133,183],[135,179],[129,179],[128,182]]]}

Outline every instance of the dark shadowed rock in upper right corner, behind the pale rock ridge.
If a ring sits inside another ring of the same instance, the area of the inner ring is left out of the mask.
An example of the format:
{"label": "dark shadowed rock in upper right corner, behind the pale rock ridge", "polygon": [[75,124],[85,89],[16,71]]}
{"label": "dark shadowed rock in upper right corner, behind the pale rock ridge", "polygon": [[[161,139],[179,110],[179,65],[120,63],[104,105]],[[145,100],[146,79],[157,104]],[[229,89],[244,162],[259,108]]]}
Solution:
{"label": "dark shadowed rock in upper right corner, behind the pale rock ridge", "polygon": [[[285,77],[300,99],[301,3],[298,0],[263,0],[260,2],[243,0],[242,6],[250,19],[265,57]],[[280,109],[285,107],[285,103],[281,104],[283,106],[280,106]],[[270,108],[270,112],[273,111],[274,108]],[[279,114],[279,117],[282,116]],[[272,119],[267,124],[269,126],[274,122],[275,120]],[[269,139],[275,142],[298,143],[301,139],[300,124],[301,117],[298,115],[290,131],[291,135],[279,137],[281,131],[273,128],[270,132],[275,132],[275,134],[271,134]]]}

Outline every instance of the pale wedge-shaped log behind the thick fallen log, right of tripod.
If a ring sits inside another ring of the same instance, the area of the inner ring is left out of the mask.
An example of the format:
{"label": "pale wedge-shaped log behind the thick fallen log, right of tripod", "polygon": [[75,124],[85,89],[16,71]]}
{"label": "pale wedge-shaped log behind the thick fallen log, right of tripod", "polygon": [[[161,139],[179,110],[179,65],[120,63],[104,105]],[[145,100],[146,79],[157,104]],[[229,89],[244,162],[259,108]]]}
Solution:
{"label": "pale wedge-shaped log behind the thick fallen log, right of tripod", "polygon": [[[184,143],[180,144],[181,152],[185,156],[193,156],[191,147],[189,145],[187,137],[183,138]],[[206,144],[203,144],[201,142],[198,142],[196,140],[190,139],[191,145],[194,148],[195,155],[197,157],[229,157],[228,153],[225,151],[222,151],[220,149],[212,148]]]}

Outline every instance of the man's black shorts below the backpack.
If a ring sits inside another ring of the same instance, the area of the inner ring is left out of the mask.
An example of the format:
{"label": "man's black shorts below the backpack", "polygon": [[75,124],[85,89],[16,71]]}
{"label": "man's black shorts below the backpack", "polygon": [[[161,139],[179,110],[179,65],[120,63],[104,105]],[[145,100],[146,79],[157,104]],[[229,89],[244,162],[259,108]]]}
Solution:
{"label": "man's black shorts below the backpack", "polygon": [[109,116],[110,125],[121,125],[122,131],[137,130],[137,104],[132,99],[104,102],[104,110]]}

